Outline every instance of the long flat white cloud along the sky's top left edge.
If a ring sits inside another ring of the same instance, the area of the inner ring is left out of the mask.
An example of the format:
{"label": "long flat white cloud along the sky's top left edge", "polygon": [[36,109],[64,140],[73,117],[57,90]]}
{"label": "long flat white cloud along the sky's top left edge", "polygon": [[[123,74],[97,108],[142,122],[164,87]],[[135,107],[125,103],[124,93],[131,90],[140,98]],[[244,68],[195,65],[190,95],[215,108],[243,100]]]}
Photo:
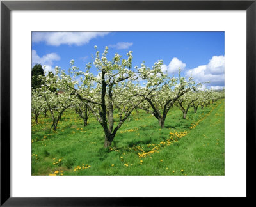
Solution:
{"label": "long flat white cloud along the sky's top left edge", "polygon": [[108,32],[33,32],[32,42],[46,42],[47,45],[59,46],[89,43],[93,38],[105,36]]}

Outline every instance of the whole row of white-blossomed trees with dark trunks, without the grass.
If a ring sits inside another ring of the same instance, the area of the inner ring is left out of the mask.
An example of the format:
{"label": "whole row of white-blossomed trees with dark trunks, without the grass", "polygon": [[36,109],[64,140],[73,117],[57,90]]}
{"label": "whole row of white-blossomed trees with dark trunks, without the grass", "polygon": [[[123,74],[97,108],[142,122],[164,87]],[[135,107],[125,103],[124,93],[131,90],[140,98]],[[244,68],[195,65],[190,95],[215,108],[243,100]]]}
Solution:
{"label": "whole row of white-blossomed trees with dark trunks, without the grass", "polygon": [[[152,68],[145,63],[132,68],[132,52],[127,53],[126,59],[115,54],[108,61],[108,47],[102,56],[96,46],[95,49],[93,65],[99,72],[97,75],[90,72],[91,63],[82,72],[72,60],[68,74],[56,67],[54,74],[37,77],[41,86],[32,89],[32,114],[36,123],[39,114],[48,110],[51,129],[56,130],[63,112],[72,107],[84,120],[84,126],[90,114],[95,116],[104,130],[104,146],[108,147],[134,109],[150,112],[163,128],[173,105],[186,118],[190,107],[196,112],[199,105],[205,107],[223,98],[223,93],[200,91],[201,83],[196,84],[192,77],[187,81],[180,72],[179,77],[164,75],[163,61],[157,61]],[[117,121],[114,113],[118,114]]]}

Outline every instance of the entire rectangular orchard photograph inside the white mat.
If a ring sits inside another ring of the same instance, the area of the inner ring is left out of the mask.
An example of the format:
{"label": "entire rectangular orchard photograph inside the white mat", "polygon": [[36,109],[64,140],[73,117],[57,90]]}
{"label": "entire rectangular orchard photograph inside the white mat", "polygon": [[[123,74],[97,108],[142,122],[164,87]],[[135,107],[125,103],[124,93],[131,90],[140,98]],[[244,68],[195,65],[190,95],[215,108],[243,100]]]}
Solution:
{"label": "entire rectangular orchard photograph inside the white mat", "polygon": [[32,31],[32,176],[224,176],[225,32]]}

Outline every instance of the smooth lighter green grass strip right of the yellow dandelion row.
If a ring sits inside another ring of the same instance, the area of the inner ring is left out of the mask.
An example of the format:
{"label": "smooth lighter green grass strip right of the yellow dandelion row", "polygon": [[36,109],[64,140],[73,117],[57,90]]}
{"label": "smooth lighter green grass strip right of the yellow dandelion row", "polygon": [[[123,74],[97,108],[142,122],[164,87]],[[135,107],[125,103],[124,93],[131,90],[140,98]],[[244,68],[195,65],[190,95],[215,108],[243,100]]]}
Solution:
{"label": "smooth lighter green grass strip right of the yellow dandelion row", "polygon": [[[224,101],[210,112],[188,135],[164,148],[156,158],[163,159],[166,173],[184,175],[224,175]],[[166,164],[165,164],[166,163]]]}

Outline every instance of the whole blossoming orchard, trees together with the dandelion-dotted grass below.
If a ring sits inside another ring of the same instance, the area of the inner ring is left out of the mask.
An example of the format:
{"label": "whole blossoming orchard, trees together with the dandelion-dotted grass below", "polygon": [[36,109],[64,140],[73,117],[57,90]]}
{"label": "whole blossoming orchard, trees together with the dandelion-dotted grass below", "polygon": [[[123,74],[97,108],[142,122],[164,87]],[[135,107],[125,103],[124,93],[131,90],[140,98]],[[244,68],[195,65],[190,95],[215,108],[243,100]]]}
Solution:
{"label": "whole blossoming orchard, trees together with the dandelion-dotted grass below", "polygon": [[224,173],[224,90],[95,50],[84,70],[72,60],[31,89],[32,174]]}

